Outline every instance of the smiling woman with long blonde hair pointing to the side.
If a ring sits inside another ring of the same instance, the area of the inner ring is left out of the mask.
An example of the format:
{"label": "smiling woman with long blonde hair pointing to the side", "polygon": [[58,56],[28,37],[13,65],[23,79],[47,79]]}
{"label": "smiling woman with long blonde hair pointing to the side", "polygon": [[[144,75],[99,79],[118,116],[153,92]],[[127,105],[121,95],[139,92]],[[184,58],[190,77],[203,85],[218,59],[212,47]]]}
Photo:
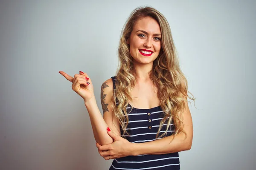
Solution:
{"label": "smiling woman with long blonde hair pointing to the side", "polygon": [[103,117],[88,75],[60,71],[84,99],[100,155],[114,159],[110,170],[180,170],[178,152],[192,146],[187,98],[194,98],[166,18],[154,8],[136,8],[123,28],[118,56],[116,76],[101,87]]}

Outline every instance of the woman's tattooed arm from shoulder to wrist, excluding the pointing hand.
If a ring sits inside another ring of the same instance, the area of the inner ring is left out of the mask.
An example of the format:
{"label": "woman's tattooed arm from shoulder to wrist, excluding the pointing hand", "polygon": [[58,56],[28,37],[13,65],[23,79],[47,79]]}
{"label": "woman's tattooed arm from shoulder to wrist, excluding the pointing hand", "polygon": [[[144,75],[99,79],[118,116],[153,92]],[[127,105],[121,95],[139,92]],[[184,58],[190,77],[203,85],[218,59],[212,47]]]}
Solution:
{"label": "woman's tattooed arm from shoulder to wrist, excluding the pointing hand", "polygon": [[106,80],[101,86],[101,103],[103,117],[96,104],[94,95],[88,102],[84,102],[90,116],[94,138],[99,144],[105,145],[113,143],[113,139],[108,135],[106,131],[107,127],[109,127],[116,135],[121,136],[119,122],[115,116],[113,116],[112,79]]}

